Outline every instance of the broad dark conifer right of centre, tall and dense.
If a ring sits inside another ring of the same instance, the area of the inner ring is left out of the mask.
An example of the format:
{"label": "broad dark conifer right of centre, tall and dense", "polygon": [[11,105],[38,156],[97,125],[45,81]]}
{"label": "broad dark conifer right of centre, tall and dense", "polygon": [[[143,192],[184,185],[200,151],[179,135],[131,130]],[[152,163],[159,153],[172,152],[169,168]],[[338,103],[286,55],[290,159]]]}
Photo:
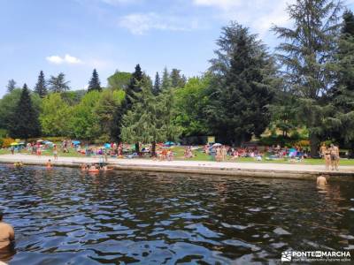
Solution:
{"label": "broad dark conifer right of centre, tall and dense", "polygon": [[219,141],[239,145],[269,124],[276,71],[265,45],[247,27],[235,22],[223,27],[217,44],[208,122]]}

